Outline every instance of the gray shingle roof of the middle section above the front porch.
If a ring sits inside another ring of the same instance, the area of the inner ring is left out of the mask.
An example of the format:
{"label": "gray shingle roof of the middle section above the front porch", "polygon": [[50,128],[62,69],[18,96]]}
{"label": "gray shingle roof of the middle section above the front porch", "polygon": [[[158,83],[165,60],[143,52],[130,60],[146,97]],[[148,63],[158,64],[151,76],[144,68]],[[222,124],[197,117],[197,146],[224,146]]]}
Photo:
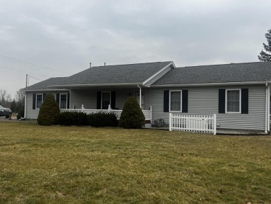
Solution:
{"label": "gray shingle roof of the middle section above the front porch", "polygon": [[170,63],[171,61],[92,67],[68,77],[65,85],[142,83]]}

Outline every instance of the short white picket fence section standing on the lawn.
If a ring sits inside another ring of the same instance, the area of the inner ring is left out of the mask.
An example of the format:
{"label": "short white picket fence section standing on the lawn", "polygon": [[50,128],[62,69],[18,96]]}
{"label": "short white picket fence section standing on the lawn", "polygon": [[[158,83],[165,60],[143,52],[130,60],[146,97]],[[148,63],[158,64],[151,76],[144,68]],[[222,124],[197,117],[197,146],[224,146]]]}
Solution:
{"label": "short white picket fence section standing on the lawn", "polygon": [[170,131],[172,130],[216,134],[216,114],[196,116],[170,113]]}

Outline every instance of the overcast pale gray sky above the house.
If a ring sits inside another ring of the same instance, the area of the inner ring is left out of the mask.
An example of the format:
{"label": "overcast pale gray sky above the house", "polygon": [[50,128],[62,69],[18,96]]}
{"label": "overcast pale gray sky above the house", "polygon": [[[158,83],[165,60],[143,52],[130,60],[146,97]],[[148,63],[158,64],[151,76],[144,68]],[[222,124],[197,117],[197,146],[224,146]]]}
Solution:
{"label": "overcast pale gray sky above the house", "polygon": [[[0,89],[92,65],[258,61],[270,0],[1,0]],[[35,77],[37,79],[34,79]]]}

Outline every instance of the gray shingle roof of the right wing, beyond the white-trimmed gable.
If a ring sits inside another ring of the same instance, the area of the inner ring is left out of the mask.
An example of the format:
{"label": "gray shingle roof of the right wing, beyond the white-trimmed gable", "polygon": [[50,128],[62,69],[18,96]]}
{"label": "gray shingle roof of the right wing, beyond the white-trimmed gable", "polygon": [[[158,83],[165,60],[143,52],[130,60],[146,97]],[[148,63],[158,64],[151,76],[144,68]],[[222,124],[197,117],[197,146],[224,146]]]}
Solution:
{"label": "gray shingle roof of the right wing, beyond the white-trimmed gable", "polygon": [[175,68],[153,85],[271,81],[271,62]]}

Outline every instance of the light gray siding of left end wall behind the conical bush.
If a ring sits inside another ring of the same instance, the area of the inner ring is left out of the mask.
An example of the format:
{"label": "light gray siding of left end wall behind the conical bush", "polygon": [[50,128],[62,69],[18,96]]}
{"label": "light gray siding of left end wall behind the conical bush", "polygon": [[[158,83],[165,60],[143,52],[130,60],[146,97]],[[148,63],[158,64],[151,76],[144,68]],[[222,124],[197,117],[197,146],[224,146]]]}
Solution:
{"label": "light gray siding of left end wall behind the conical bush", "polygon": [[[26,118],[37,119],[40,109],[33,109],[33,94],[53,93],[56,98],[56,93],[69,93],[67,91],[57,92],[27,92],[26,93]],[[44,100],[44,99],[43,99]]]}

